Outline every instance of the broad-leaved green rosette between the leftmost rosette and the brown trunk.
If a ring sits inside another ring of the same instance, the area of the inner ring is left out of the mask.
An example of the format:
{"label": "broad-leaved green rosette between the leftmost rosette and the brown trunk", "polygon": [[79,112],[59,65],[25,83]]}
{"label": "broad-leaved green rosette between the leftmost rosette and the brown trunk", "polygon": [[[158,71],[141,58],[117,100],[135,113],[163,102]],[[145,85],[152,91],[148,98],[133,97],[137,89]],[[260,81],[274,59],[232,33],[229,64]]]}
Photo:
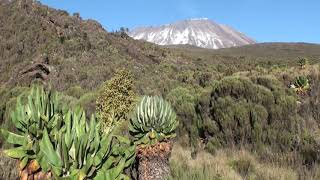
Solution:
{"label": "broad-leaved green rosette between the leftmost rosette and the brown trunk", "polygon": [[135,146],[125,138],[102,133],[94,116],[89,123],[80,108],[68,111],[65,125],[56,136],[44,132],[37,156],[45,171],[56,178],[67,179],[124,179],[124,168],[135,157]]}

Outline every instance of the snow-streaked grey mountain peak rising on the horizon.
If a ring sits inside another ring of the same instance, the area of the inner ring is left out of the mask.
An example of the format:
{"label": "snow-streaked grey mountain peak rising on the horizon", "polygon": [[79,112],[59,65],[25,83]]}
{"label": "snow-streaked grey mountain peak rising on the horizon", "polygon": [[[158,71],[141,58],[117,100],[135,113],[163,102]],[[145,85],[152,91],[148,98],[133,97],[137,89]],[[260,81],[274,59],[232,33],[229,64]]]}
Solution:
{"label": "snow-streaked grey mountain peak rising on the horizon", "polygon": [[189,44],[209,49],[255,43],[233,28],[208,18],[183,20],[158,27],[140,27],[130,31],[129,36],[159,45]]}

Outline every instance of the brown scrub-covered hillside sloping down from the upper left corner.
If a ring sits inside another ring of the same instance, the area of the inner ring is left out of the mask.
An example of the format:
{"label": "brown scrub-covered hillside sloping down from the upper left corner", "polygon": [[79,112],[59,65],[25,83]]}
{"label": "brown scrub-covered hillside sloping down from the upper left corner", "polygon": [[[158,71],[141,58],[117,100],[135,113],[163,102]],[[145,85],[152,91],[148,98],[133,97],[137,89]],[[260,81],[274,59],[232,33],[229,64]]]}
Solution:
{"label": "brown scrub-covered hillside sloping down from the upper left corner", "polygon": [[169,61],[165,49],[33,0],[0,1],[0,24],[1,85],[42,80],[61,90],[71,84],[93,89],[119,67],[139,79]]}

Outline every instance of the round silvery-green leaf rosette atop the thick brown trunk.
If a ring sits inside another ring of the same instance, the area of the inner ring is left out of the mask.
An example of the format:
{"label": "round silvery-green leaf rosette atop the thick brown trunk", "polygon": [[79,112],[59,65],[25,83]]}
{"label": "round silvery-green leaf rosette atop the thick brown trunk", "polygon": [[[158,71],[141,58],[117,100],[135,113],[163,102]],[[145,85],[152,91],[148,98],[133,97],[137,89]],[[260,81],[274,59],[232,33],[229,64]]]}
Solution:
{"label": "round silvery-green leaf rosette atop the thick brown trunk", "polygon": [[155,144],[175,136],[179,121],[171,105],[162,98],[144,96],[129,126],[137,144]]}

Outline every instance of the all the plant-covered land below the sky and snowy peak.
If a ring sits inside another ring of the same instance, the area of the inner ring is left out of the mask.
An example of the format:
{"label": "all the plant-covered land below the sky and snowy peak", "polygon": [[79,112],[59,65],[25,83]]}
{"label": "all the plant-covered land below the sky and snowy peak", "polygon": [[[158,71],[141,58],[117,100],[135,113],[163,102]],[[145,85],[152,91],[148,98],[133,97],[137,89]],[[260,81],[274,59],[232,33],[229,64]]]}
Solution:
{"label": "all the plant-covered land below the sky and snowy peak", "polygon": [[0,179],[320,178],[319,45],[160,47],[31,0],[0,24]]}

